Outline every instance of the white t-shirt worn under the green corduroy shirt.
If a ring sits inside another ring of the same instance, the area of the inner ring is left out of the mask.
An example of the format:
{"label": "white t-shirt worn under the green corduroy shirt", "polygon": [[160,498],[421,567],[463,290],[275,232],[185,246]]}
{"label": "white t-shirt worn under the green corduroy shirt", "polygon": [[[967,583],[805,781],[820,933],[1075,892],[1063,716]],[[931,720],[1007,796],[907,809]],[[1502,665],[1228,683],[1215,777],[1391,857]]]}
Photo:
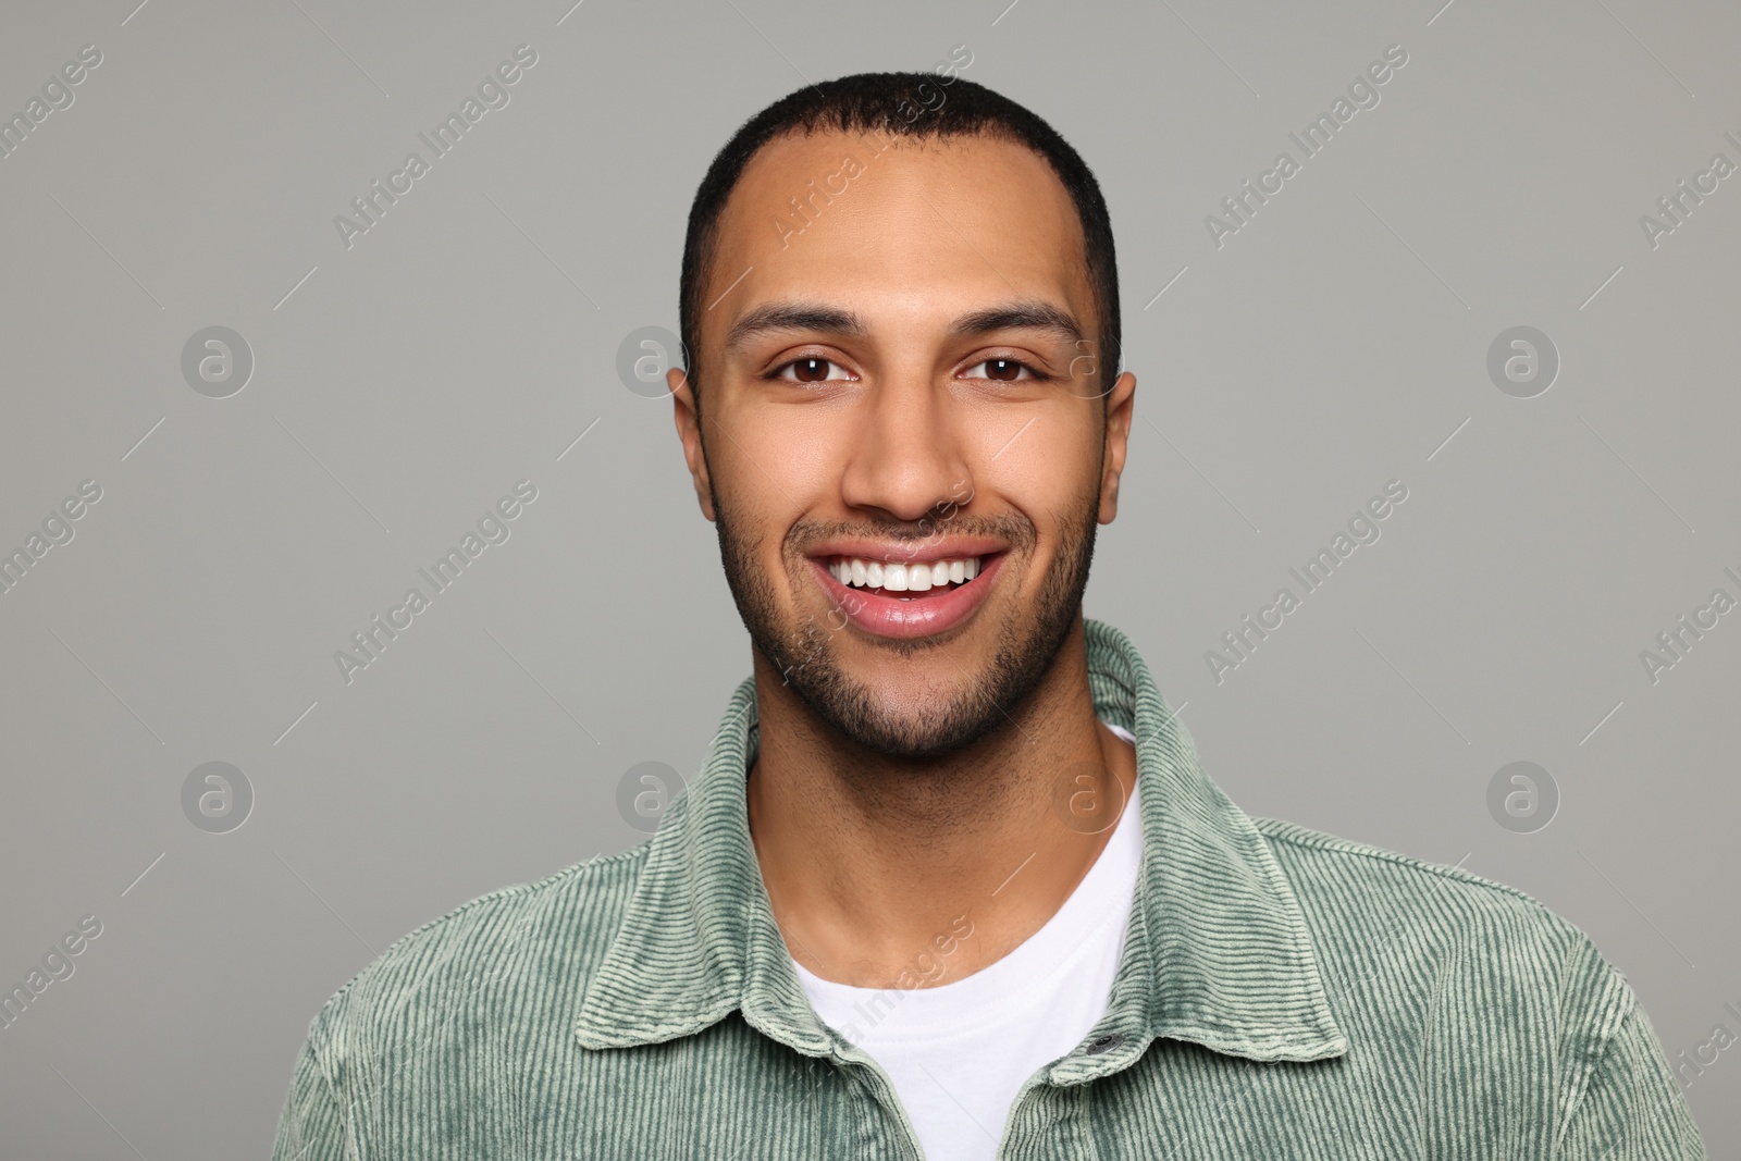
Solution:
{"label": "white t-shirt worn under the green corduroy shirt", "polygon": [[923,989],[851,987],[794,961],[823,1023],[893,1079],[926,1158],[996,1156],[1022,1084],[1076,1048],[1106,1015],[1140,862],[1133,792],[1112,837],[1057,914],[970,976]]}

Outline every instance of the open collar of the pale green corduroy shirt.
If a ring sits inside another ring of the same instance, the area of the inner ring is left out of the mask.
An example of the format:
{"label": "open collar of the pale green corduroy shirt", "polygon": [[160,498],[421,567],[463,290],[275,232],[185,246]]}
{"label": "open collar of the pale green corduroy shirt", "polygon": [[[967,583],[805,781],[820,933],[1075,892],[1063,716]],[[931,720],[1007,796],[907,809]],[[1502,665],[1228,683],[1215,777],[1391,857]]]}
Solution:
{"label": "open collar of the pale green corduroy shirt", "polygon": [[[1095,620],[1085,627],[1095,712],[1137,736],[1144,855],[1125,956],[1095,1025],[1112,1048],[1065,1057],[1052,1079],[1112,1072],[1158,1036],[1264,1062],[1346,1053],[1306,917],[1267,841],[1203,775],[1130,637]],[[837,1051],[797,982],[750,842],[743,783],[757,743],[750,677],[653,836],[575,1022],[585,1048],[669,1041],[742,1011],[797,1051]]]}

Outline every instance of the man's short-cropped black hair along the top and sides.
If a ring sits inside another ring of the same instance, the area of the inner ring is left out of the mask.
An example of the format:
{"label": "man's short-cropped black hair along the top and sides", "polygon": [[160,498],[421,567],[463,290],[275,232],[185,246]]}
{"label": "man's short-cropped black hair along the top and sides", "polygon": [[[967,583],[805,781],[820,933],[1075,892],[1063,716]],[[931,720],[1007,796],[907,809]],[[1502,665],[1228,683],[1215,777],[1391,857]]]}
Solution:
{"label": "man's short-cropped black hair along the top and sides", "polygon": [[714,157],[695,191],[682,244],[679,325],[696,402],[702,315],[707,312],[702,294],[719,249],[719,214],[743,169],[764,144],[783,134],[830,131],[879,131],[918,139],[989,136],[1025,144],[1046,158],[1081,221],[1088,285],[1100,312],[1095,372],[1102,399],[1111,393],[1119,359],[1118,261],[1112,251],[1112,219],[1088,164],[1052,125],[985,85],[933,73],[857,73],[799,89],[750,117]]}

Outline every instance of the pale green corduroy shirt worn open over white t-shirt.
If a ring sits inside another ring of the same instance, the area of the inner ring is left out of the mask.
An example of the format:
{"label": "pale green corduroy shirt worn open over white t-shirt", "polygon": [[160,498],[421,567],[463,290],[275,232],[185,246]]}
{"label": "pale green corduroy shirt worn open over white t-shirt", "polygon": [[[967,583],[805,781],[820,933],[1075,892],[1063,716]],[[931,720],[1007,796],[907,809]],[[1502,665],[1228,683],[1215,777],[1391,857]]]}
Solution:
{"label": "pale green corduroy shirt worn open over white t-shirt", "polygon": [[[1086,630],[1095,712],[1137,736],[1142,872],[1107,1013],[1024,1084],[999,1158],[1704,1158],[1581,931],[1476,876],[1248,818],[1130,639]],[[921,1158],[775,926],[745,813],[757,742],[747,679],[656,836],[472,900],[346,983],[310,1023],[275,1161]]]}

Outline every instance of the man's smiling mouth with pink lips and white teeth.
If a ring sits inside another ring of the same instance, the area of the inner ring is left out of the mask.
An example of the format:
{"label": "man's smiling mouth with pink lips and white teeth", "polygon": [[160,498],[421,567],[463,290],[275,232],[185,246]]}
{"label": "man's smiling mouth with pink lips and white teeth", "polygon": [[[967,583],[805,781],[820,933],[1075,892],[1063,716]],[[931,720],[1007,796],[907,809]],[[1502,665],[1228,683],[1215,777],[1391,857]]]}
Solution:
{"label": "man's smiling mouth with pink lips and white teeth", "polygon": [[[1005,552],[933,560],[811,557],[834,613],[876,637],[933,637],[966,621],[991,592]],[[844,625],[834,625],[843,628]]]}

